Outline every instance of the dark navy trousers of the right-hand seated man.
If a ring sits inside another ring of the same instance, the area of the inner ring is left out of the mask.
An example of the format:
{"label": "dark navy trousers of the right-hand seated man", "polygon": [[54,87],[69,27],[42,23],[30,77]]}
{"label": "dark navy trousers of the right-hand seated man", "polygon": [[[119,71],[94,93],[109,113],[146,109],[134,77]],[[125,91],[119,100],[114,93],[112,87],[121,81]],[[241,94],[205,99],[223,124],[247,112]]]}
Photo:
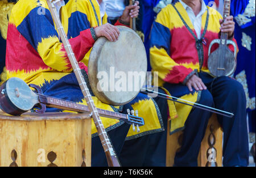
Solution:
{"label": "dark navy trousers of the right-hand seated man", "polygon": [[[217,115],[224,132],[223,166],[247,166],[249,143],[242,85],[229,77],[212,78],[206,73],[199,73],[199,77],[208,88],[202,91],[199,103],[234,113],[232,118]],[[181,149],[175,156],[175,166],[197,166],[197,155],[210,115],[197,108],[190,113],[185,122]]]}

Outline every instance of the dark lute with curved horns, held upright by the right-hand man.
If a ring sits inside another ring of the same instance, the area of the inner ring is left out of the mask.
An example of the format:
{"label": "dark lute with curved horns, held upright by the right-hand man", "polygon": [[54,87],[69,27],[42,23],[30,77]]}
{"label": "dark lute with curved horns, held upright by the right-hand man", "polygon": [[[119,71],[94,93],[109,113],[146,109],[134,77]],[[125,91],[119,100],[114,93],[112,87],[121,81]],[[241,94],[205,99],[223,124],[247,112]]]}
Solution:
{"label": "dark lute with curved horns, held upright by the right-hand man", "polygon": [[[224,0],[223,20],[230,14],[230,1]],[[213,44],[219,44],[214,52],[210,53]],[[234,46],[234,53],[228,48]],[[236,70],[237,45],[232,40],[228,40],[228,33],[221,32],[220,39],[214,39],[209,45],[208,69],[214,77],[230,76]]]}

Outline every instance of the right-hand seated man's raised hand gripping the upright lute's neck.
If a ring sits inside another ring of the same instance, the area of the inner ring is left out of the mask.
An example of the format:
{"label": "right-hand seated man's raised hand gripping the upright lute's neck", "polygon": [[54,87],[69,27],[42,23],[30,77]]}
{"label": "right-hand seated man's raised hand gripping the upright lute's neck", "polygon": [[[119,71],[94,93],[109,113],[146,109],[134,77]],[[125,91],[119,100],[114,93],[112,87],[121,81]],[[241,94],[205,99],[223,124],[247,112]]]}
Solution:
{"label": "right-hand seated man's raised hand gripping the upright lute's neck", "polygon": [[221,24],[221,27],[220,27],[221,32],[228,33],[229,38],[233,37],[234,27],[235,27],[233,16],[230,15],[225,20],[220,19],[220,24]]}

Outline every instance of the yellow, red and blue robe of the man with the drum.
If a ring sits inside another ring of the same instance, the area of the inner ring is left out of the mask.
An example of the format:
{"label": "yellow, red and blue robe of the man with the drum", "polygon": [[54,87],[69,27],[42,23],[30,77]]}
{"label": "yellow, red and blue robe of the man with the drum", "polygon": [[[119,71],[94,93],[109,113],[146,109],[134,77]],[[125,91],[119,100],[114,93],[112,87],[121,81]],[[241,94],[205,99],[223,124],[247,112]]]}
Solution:
{"label": "yellow, red and blue robe of the man with the drum", "polygon": [[[61,22],[80,68],[87,71],[89,50],[94,44],[89,28],[100,26],[101,19],[97,18],[100,16],[100,8],[96,0],[65,2],[66,5],[61,7]],[[102,24],[106,22],[105,14]],[[53,94],[51,90],[48,90],[56,88],[56,81],[60,81],[59,83],[68,81],[74,84],[76,81],[69,77],[72,75],[72,67],[45,0],[20,0],[13,7],[7,34],[6,53],[7,78],[19,77],[28,84],[38,84],[46,94],[69,100],[71,94],[68,88],[64,90],[67,92],[60,91],[61,95]],[[63,86],[57,86],[57,88],[61,87]],[[75,97],[77,103],[86,105],[80,93],[72,92],[72,95],[73,97],[77,95]],[[93,100],[98,108],[117,111],[111,105],[101,103],[95,96]],[[139,116],[145,119],[146,125],[141,128],[141,133],[134,135],[134,132],[131,132],[127,139],[152,133],[152,130],[155,132],[163,130],[158,107],[152,99],[139,94],[130,105],[139,110]],[[56,111],[56,109],[48,111]],[[107,131],[122,124],[110,118],[101,117],[101,119]],[[92,134],[97,135],[94,123]]]}

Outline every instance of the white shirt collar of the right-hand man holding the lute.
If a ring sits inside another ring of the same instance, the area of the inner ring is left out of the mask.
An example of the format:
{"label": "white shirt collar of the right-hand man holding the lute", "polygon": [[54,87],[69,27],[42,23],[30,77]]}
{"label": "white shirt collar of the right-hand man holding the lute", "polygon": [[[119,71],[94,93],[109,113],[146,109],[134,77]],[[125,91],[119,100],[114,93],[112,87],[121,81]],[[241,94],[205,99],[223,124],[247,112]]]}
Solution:
{"label": "white shirt collar of the right-hand man holding the lute", "polygon": [[205,2],[203,0],[200,0],[200,1],[201,1],[201,11],[199,12],[199,14],[195,15],[195,13],[193,12],[191,7],[186,5],[183,1],[179,0],[181,5],[187,11],[189,19],[191,20],[191,22],[195,28],[196,35],[197,35],[198,39],[200,39],[200,37],[201,37],[202,16],[203,16],[204,12],[207,11],[207,6],[205,5]]}

